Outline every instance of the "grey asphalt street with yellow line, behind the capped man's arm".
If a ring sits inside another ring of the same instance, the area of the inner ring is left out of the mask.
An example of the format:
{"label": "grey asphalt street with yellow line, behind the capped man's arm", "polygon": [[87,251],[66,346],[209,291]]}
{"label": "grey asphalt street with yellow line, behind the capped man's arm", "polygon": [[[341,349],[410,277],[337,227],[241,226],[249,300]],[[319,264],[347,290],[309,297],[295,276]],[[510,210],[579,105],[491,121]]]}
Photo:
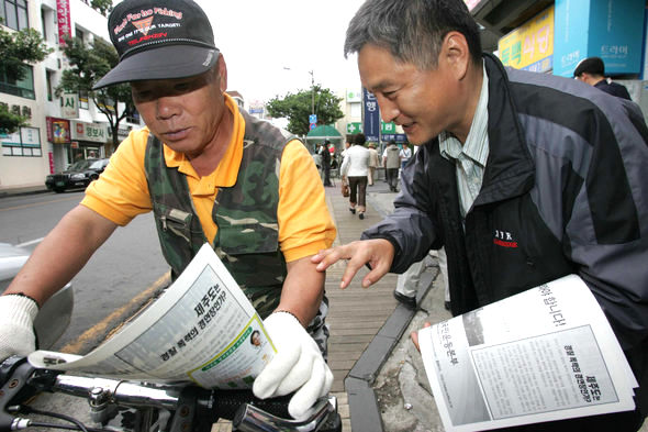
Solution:
{"label": "grey asphalt street with yellow line, behind the capped man's arm", "polygon": [[[33,250],[82,198],[82,191],[1,198],[0,242]],[[72,279],[71,323],[53,348],[88,353],[156,290],[167,270],[152,214],[119,228]]]}

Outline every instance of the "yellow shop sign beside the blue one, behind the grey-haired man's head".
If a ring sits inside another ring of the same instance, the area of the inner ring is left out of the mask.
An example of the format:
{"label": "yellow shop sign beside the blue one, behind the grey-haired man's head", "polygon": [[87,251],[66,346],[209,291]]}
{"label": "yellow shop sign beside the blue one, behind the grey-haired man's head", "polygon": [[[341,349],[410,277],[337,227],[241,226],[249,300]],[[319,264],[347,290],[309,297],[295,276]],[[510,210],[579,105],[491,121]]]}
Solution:
{"label": "yellow shop sign beside the blue one, behind the grey-haired man's head", "polygon": [[504,66],[532,71],[551,70],[554,59],[554,7],[515,29],[498,42]]}

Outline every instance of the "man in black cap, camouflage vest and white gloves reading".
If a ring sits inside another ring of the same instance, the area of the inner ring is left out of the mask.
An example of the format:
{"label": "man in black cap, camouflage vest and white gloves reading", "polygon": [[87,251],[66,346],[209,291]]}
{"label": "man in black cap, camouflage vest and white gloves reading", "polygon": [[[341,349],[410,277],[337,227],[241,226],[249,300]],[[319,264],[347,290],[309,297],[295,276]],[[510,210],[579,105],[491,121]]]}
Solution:
{"label": "man in black cap, camouflage vest and white gloves reading", "polygon": [[255,380],[255,395],[297,390],[289,412],[304,416],[333,380],[322,354],[324,277],[309,257],[332,244],[335,226],[312,157],[226,96],[225,60],[195,2],[123,1],[110,14],[109,33],[120,63],[94,89],[130,82],[146,128],[120,145],[0,298],[0,357],[33,351],[38,304],[119,225],[153,211],[172,277],[205,242],[214,247],[278,351]]}

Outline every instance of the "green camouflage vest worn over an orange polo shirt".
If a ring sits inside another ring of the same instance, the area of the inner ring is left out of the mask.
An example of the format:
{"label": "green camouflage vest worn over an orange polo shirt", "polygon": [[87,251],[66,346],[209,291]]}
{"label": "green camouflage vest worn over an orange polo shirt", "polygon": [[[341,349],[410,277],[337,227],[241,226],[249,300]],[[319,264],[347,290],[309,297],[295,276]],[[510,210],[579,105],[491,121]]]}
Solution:
{"label": "green camouflage vest worn over an orange polo shirt", "polygon": [[[292,136],[242,112],[243,158],[232,187],[219,188],[213,248],[261,318],[279,304],[287,267],[279,250],[279,167]],[[163,145],[148,136],[145,171],[163,254],[174,280],[206,242],[185,175],[166,166]]]}

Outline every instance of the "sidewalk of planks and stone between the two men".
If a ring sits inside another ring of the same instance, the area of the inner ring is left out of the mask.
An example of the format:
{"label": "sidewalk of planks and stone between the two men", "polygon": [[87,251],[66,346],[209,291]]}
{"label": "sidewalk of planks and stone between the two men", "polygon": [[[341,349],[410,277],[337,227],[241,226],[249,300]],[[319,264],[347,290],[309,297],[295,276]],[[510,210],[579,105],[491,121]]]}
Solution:
{"label": "sidewalk of planks and stone between the two men", "polygon": [[[359,240],[364,230],[393,210],[396,193],[390,192],[381,179],[367,188],[365,220],[348,211],[348,199],[339,191],[339,180],[336,185],[326,188],[328,209],[337,225],[335,244]],[[431,288],[418,292],[421,310],[416,313],[393,298],[396,275],[388,274],[364,289],[360,281],[368,272],[364,268],[348,288],[340,290],[344,268],[345,264],[338,263],[326,274],[326,295],[331,301],[328,364],[335,376],[332,392],[339,400],[343,431],[442,428],[434,400],[425,389],[427,379],[423,365],[417,364],[420,355],[409,337],[424,321],[449,318],[443,308],[443,287],[436,280],[438,267],[428,268],[422,277],[422,286]]]}

